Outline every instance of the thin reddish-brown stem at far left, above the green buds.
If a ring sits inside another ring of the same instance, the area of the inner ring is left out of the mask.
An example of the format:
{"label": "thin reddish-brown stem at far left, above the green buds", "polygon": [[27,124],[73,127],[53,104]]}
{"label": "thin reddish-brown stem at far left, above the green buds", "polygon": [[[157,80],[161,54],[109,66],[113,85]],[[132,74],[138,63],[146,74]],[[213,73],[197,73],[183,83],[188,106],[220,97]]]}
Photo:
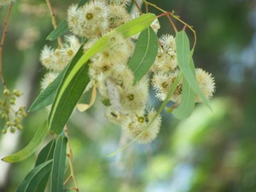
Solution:
{"label": "thin reddish-brown stem at far left, above the green buds", "polygon": [[7,33],[7,26],[8,26],[8,21],[11,15],[11,8],[12,8],[12,3],[9,6],[9,11],[8,14],[6,16],[6,20],[4,21],[4,31],[3,31],[3,35],[1,38],[1,44],[0,44],[0,78],[1,78],[1,82],[4,86],[4,89],[6,89],[6,81],[4,80],[4,75],[3,75],[3,71],[2,71],[2,54],[3,54],[3,47],[4,47],[4,40],[5,40],[5,36]]}

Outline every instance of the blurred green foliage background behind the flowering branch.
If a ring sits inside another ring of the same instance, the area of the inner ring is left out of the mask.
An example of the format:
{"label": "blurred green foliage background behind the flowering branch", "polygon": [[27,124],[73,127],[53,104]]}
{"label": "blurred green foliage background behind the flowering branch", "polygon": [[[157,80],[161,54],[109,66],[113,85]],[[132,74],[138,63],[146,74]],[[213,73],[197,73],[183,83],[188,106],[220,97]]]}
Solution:
{"label": "blurred green foliage background behind the flowering branch", "polygon": [[[163,112],[154,142],[133,144],[112,157],[107,154],[119,149],[121,129],[107,122],[100,101],[85,113],[75,112],[68,127],[80,191],[256,191],[256,1],[150,2],[174,10],[196,30],[195,65],[215,77],[213,111],[196,105],[183,121]],[[52,2],[58,23],[72,3],[76,1]],[[1,33],[7,12],[8,7],[0,8]],[[160,23],[158,36],[174,34],[166,18]],[[40,92],[46,70],[38,57],[45,44],[57,47],[56,41],[46,41],[52,30],[45,1],[16,1],[4,44],[3,73],[9,89],[23,92],[18,105],[29,107]],[[187,32],[193,43],[193,34]],[[154,91],[150,100],[159,107]],[[0,158],[26,146],[46,115],[45,110],[33,112],[23,121],[22,132],[0,134]],[[15,191],[36,155],[17,164],[0,163],[1,192]]]}

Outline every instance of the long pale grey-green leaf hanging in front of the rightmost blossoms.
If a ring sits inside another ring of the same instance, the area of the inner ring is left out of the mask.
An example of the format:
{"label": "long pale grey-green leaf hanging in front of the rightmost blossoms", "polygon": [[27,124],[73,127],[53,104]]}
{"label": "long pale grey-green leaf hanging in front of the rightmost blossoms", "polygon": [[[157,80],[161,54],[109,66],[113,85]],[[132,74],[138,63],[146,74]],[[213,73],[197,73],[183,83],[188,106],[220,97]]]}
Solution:
{"label": "long pale grey-green leaf hanging in front of the rightmost blossoms", "polygon": [[189,48],[189,41],[188,36],[186,35],[185,31],[180,31],[177,33],[176,38],[176,53],[177,53],[177,60],[178,60],[178,67],[180,68],[183,77],[186,79],[188,84],[192,87],[193,91],[196,92],[199,97],[203,100],[203,103],[210,108],[208,104],[208,100],[201,92],[200,87],[196,83],[196,77],[194,75],[195,70],[192,70],[191,66],[188,67],[188,63],[190,63],[191,58],[191,51]]}

